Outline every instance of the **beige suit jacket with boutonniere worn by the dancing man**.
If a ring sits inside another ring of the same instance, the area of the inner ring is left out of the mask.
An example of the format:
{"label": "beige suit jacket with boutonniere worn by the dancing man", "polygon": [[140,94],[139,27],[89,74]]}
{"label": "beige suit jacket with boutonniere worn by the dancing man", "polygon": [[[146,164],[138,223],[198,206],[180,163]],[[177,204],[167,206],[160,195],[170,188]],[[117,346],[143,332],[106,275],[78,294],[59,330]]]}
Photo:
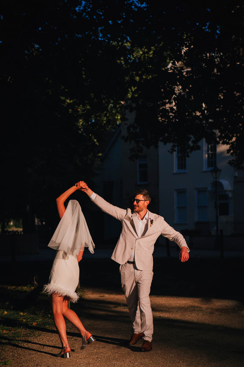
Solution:
{"label": "beige suit jacket with boutonniere worn by the dancing man", "polygon": [[139,270],[152,270],[154,243],[160,235],[174,241],[180,248],[187,247],[189,252],[184,237],[170,227],[160,215],[148,211],[149,218],[153,219],[153,224],[150,226],[149,219],[145,235],[138,237],[138,219],[135,212],[131,212],[129,208],[125,210],[113,206],[98,195],[93,201],[102,211],[121,221],[121,235],[111,257],[119,264],[125,264],[131,255],[131,251],[135,248],[136,267]]}

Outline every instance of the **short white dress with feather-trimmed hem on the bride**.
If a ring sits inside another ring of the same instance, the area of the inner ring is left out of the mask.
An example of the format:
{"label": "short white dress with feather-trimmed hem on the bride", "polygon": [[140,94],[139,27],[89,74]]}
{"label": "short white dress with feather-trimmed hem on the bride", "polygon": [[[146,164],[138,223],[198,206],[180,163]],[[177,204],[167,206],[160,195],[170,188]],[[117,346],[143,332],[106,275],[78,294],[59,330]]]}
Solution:
{"label": "short white dress with feather-trimmed hem on the bride", "polygon": [[75,292],[79,283],[79,265],[77,258],[57,251],[50,272],[48,284],[43,291],[47,294],[57,293],[67,296],[71,302],[77,302],[79,294]]}

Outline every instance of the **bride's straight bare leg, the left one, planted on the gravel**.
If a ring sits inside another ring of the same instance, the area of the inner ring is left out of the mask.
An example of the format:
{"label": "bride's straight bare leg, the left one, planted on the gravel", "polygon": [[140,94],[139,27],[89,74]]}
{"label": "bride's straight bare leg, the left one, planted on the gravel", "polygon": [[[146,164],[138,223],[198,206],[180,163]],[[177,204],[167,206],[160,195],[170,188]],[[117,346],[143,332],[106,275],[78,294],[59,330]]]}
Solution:
{"label": "bride's straight bare leg, the left one, planted on the gravel", "polygon": [[[66,334],[66,325],[65,320],[63,316],[63,296],[60,296],[59,294],[53,293],[52,294],[52,309],[53,309],[53,318],[54,323],[57,329],[57,332],[59,333],[59,338],[62,344],[62,347],[65,345],[68,345],[68,339]],[[70,352],[70,347],[65,348],[64,352],[68,353]]]}

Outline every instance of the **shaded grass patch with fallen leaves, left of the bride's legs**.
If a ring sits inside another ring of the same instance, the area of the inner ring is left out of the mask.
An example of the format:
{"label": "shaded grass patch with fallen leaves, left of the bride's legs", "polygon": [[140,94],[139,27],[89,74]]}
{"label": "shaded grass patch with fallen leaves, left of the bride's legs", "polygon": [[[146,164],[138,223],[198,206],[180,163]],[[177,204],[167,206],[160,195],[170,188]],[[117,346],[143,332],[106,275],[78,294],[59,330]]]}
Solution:
{"label": "shaded grass patch with fallen leaves, left of the bride's legs", "polygon": [[[84,291],[80,290],[80,297]],[[72,304],[72,309],[76,305]],[[49,297],[42,293],[42,286],[0,286],[0,339],[1,348],[8,343],[38,337],[46,328],[54,328]],[[11,364],[1,361],[0,365]]]}

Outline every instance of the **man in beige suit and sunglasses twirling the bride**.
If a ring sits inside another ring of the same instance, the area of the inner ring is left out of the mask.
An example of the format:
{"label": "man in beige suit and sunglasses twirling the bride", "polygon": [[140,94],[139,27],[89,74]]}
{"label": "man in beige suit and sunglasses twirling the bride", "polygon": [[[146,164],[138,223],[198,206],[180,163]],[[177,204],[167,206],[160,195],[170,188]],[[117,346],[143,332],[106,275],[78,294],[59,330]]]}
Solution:
{"label": "man in beige suit and sunglasses twirling the bride", "polygon": [[143,338],[142,351],[152,349],[153,315],[150,305],[150,287],[153,279],[154,243],[162,235],[181,248],[180,260],[189,258],[189,248],[184,237],[169,226],[160,215],[147,210],[151,196],[146,190],[138,190],[132,199],[134,211],[121,209],[95,194],[85,182],[78,182],[82,190],[105,213],[121,221],[122,231],[112,254],[120,264],[121,284],[125,293],[133,334],[128,341],[134,345]]}

